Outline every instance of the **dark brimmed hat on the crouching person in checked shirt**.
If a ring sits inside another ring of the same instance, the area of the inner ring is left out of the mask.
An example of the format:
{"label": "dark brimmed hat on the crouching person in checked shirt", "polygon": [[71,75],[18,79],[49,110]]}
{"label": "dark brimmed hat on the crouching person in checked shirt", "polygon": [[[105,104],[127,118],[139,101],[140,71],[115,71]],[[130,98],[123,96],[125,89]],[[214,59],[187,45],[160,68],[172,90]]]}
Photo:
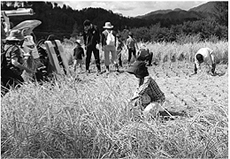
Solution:
{"label": "dark brimmed hat on the crouching person in checked shirt", "polygon": [[148,68],[144,61],[135,61],[126,71],[130,74],[134,74],[137,78],[143,78],[149,75]]}

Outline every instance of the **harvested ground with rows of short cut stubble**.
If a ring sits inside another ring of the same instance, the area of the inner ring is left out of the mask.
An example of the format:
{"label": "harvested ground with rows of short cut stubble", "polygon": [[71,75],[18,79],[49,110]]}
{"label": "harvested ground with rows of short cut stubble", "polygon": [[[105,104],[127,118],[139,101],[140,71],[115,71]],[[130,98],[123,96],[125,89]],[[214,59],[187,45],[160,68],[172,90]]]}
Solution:
{"label": "harvested ground with rows of short cut stubble", "polygon": [[[135,77],[131,77],[125,73],[127,66],[121,68],[121,72],[117,74],[111,69],[111,73],[106,76],[96,75],[96,67],[90,66],[91,72],[86,75],[80,73],[82,79],[93,80],[96,83],[107,81],[120,81],[128,83],[124,87],[135,89],[137,82]],[[149,74],[156,80],[161,90],[165,93],[166,102],[164,107],[169,110],[186,110],[190,115],[210,108],[211,106],[223,107],[227,112],[228,106],[228,66],[219,64],[216,67],[216,76],[206,73],[207,68],[201,66],[202,70],[198,74],[191,76],[193,73],[193,63],[174,62],[164,63],[158,66],[150,66]],[[102,70],[104,67],[102,65]],[[84,72],[84,70],[83,70]],[[124,92],[128,91],[123,88]],[[125,94],[123,92],[123,94]],[[129,91],[130,93],[130,91]]]}

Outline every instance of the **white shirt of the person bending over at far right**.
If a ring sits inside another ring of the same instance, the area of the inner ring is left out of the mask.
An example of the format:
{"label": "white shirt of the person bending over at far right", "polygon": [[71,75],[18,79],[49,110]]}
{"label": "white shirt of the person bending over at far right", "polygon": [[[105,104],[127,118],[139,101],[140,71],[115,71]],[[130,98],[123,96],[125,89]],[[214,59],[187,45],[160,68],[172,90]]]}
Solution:
{"label": "white shirt of the person bending over at far right", "polygon": [[196,59],[197,54],[201,54],[203,56],[205,64],[208,64],[209,66],[211,66],[212,64],[215,64],[215,56],[213,54],[213,50],[210,48],[201,48],[195,54],[195,64],[198,69],[200,68],[200,63]]}

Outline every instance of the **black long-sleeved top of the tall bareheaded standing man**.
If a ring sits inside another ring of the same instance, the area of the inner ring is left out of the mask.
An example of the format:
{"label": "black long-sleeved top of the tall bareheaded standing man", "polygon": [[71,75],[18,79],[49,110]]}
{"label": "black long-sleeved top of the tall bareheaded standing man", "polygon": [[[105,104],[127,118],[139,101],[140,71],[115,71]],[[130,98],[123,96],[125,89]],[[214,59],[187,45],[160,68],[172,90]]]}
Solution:
{"label": "black long-sleeved top of the tall bareheaded standing man", "polygon": [[100,34],[95,25],[91,25],[88,32],[83,33],[84,44],[86,47],[96,47],[100,43]]}

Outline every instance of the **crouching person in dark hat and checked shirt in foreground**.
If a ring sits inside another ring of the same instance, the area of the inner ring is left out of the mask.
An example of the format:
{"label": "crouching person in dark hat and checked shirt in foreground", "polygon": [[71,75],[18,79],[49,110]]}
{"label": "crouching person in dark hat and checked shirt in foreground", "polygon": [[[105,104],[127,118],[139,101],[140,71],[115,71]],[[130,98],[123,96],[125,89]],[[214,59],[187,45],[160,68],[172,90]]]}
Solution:
{"label": "crouching person in dark hat and checked shirt in foreground", "polygon": [[134,102],[132,110],[134,115],[137,115],[135,117],[139,118],[143,114],[145,119],[157,116],[174,119],[176,116],[187,115],[183,110],[174,112],[163,107],[165,94],[161,91],[156,81],[149,75],[144,61],[135,61],[127,69],[127,72],[134,74],[139,82],[139,87],[130,100],[130,102]]}

